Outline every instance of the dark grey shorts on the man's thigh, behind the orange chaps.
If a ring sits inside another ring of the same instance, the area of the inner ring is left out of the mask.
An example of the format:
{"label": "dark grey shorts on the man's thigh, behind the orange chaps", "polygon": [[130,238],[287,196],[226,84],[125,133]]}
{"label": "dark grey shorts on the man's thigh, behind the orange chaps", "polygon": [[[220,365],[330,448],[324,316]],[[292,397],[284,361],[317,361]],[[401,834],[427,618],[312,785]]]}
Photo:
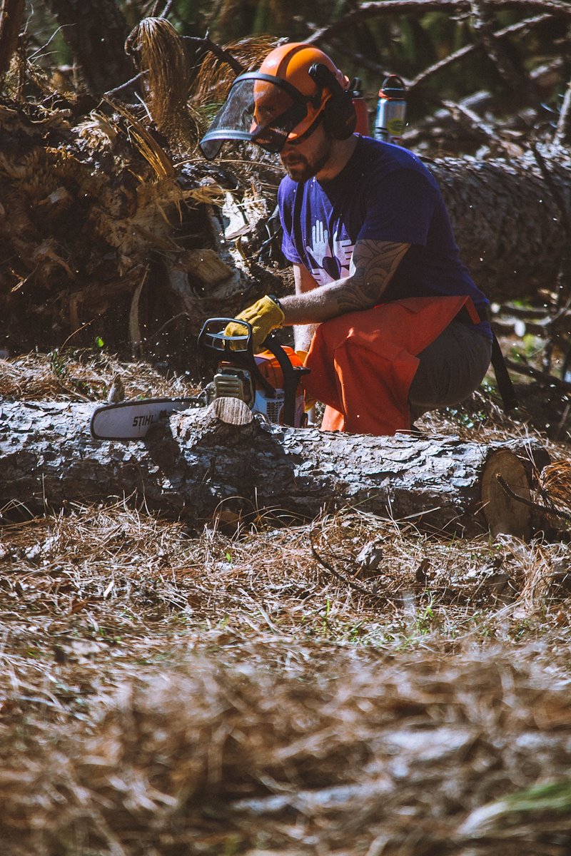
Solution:
{"label": "dark grey shorts on the man's thigh, behind the orange chaps", "polygon": [[408,393],[411,422],[428,410],[458,404],[478,389],[490,366],[491,339],[472,324],[453,321],[419,360]]}

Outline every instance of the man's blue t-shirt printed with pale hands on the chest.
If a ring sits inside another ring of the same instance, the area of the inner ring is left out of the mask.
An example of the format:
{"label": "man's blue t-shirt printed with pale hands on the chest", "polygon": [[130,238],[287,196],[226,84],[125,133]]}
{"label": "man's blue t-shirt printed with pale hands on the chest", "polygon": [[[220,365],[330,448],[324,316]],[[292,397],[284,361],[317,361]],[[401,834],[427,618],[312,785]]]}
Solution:
{"label": "man's blue t-shirt printed with pale hands on the chest", "polygon": [[[468,294],[488,305],[462,265],[437,181],[412,152],[359,137],[331,181],[283,178],[277,193],[282,249],[325,285],[349,274],[355,241],[410,244],[381,300]],[[479,324],[487,336],[487,322]]]}

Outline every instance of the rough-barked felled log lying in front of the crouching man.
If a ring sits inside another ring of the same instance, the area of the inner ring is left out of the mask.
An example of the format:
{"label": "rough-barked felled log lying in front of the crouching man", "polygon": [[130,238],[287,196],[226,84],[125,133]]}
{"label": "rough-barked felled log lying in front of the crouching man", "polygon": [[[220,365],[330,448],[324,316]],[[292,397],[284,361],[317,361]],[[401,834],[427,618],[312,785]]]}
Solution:
{"label": "rough-barked felled log lying in front of the crouching man", "polygon": [[194,521],[221,509],[247,516],[271,510],[291,520],[353,507],[431,532],[472,536],[491,528],[525,537],[530,508],[510,499],[496,474],[528,499],[531,467],[549,461],[529,440],[485,445],[262,425],[232,399],[177,413],[153,425],[145,441],[99,442],[88,431],[93,408],[3,402],[5,516],[130,496]]}

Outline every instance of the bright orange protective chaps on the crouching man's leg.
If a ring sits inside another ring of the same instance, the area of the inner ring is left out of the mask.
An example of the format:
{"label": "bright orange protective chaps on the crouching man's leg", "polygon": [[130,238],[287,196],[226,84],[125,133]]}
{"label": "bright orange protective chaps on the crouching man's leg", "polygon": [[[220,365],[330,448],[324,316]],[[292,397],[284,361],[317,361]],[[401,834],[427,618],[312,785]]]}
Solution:
{"label": "bright orange protective chaps on the crouching man's leg", "polygon": [[320,324],[305,365],[307,394],[323,401],[324,431],[392,435],[408,431],[408,390],[417,354],[440,336],[463,306],[479,322],[472,300],[411,297],[349,312]]}

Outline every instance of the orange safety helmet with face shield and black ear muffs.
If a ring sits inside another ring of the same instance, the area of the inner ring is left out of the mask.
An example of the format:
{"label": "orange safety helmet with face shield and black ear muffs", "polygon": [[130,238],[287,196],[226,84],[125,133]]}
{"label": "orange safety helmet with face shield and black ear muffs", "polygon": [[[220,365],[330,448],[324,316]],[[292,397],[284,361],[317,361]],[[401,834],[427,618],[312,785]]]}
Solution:
{"label": "orange safety helmet with face shield and black ear muffs", "polygon": [[236,78],[199,147],[209,160],[217,157],[224,140],[280,152],[286,142],[312,134],[319,122],[344,140],[355,127],[352,99],[348,77],[323,51],[302,42],[280,45],[258,71]]}

